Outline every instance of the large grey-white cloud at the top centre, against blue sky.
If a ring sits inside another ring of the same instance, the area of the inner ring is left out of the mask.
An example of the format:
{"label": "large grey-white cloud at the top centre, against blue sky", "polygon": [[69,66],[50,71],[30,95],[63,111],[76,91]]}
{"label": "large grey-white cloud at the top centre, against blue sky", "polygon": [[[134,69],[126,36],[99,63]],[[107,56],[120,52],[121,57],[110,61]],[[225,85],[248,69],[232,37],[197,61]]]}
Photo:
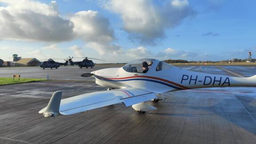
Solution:
{"label": "large grey-white cloud at the top centre, against blue sky", "polygon": [[104,1],[103,5],[120,14],[129,38],[147,44],[155,44],[165,37],[165,29],[173,28],[195,14],[188,0],[167,0],[159,5],[153,4],[152,0],[110,0]]}

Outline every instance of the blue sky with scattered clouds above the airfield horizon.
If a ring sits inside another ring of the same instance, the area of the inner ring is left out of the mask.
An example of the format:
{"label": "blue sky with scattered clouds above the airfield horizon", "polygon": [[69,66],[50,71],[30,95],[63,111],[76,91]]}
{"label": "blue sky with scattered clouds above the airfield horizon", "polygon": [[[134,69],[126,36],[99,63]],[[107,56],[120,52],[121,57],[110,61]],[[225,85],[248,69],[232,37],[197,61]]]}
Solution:
{"label": "blue sky with scattered clouds above the airfield horizon", "polygon": [[39,60],[87,56],[105,63],[216,61],[245,59],[249,51],[255,58],[255,5],[256,0],[0,0],[0,59],[18,54]]}

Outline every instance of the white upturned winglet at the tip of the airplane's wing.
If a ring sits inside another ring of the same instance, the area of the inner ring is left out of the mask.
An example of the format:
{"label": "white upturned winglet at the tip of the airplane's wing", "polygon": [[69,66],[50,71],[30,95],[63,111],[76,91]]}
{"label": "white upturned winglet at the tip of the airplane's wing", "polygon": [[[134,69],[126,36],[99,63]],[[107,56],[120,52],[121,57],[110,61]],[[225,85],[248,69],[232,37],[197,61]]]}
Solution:
{"label": "white upturned winglet at the tip of the airplane's wing", "polygon": [[52,117],[60,114],[60,100],[62,96],[62,91],[57,91],[52,94],[52,98],[49,101],[47,107],[41,109],[39,113],[43,114],[44,117]]}

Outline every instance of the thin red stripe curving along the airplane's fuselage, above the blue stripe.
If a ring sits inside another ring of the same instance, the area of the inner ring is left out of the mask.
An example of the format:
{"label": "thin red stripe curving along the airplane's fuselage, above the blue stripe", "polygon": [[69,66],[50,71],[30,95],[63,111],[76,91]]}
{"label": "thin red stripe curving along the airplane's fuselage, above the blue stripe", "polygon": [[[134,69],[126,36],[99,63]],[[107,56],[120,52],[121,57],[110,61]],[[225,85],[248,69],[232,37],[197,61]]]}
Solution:
{"label": "thin red stripe curving along the airplane's fuselage, above the blue stripe", "polygon": [[[98,76],[98,75],[97,75]],[[128,76],[128,77],[120,77],[120,78],[106,78],[106,77],[101,77],[99,76],[100,78],[103,78],[103,79],[107,79],[107,80],[123,80],[123,79],[129,79],[129,78],[138,78],[138,77],[144,77],[144,78],[149,78],[149,79],[155,79],[155,80],[161,80],[161,81],[164,81],[164,82],[167,82],[169,84],[174,84],[180,88],[184,88],[184,89],[190,89],[188,87],[185,87],[183,85],[180,85],[180,84],[177,84],[177,83],[174,83],[172,81],[169,81],[169,80],[165,80],[165,79],[161,79],[161,78],[158,78],[158,77],[153,77],[153,76]]]}

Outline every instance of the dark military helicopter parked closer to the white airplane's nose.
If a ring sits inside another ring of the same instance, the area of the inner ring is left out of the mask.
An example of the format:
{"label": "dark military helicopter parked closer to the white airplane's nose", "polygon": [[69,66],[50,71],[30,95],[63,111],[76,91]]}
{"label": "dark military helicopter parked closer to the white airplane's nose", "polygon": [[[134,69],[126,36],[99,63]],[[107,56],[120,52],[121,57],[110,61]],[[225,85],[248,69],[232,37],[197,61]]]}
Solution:
{"label": "dark military helicopter parked closer to the white airplane's nose", "polygon": [[[72,61],[72,59],[73,58],[84,58],[84,60],[83,61],[76,61],[76,62],[73,62]],[[88,68],[88,67],[94,67],[94,63],[92,62],[92,60],[88,60],[88,59],[93,59],[93,60],[100,60],[100,59],[94,59],[94,58],[89,58],[89,57],[74,57],[74,56],[72,56],[72,57],[70,57],[69,56],[69,59],[68,59],[68,61],[70,62],[70,65],[78,65],[80,68],[83,68],[83,67],[85,67],[85,68]],[[102,61],[105,61],[105,60],[102,60]]]}

